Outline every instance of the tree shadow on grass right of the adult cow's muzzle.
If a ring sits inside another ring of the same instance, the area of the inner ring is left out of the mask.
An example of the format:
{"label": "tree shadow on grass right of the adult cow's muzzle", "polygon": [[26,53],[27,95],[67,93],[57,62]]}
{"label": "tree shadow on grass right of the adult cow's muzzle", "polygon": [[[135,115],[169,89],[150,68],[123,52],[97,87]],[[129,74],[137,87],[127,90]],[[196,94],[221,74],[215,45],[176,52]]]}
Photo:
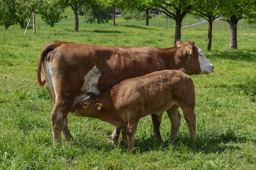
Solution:
{"label": "tree shadow on grass right of the adult cow's muzzle", "polygon": [[226,50],[219,51],[216,54],[212,54],[211,57],[219,59],[232,59],[238,61],[255,62],[256,61],[256,49],[250,49],[246,51],[242,50]]}

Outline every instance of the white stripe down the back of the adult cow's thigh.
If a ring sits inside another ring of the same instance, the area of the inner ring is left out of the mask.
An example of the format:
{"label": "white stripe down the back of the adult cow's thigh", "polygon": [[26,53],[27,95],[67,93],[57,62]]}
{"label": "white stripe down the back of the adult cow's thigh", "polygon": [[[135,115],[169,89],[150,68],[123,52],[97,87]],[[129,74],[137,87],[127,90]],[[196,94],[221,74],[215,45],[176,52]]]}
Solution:
{"label": "white stripe down the back of the adult cow's thigh", "polygon": [[47,61],[46,57],[44,57],[43,67],[44,67],[44,76],[46,79],[47,88],[49,90],[50,96],[52,97],[52,101],[55,103],[56,97],[55,97],[54,87],[53,87],[53,83],[52,83],[51,70],[49,67],[49,62]]}

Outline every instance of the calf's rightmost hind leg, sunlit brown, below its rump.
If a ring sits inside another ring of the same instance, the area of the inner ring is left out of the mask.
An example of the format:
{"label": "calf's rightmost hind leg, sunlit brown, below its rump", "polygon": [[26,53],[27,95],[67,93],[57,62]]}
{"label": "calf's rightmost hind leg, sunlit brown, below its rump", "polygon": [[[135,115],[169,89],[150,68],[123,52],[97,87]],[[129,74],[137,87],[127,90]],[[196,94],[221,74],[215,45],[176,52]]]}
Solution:
{"label": "calf's rightmost hind leg, sunlit brown, below its rump", "polygon": [[195,136],[195,131],[196,131],[196,125],[195,125],[195,113],[194,113],[194,107],[193,106],[188,106],[188,105],[184,105],[183,107],[181,106],[181,109],[183,110],[183,116],[186,120],[186,123],[189,127],[189,131],[190,131],[190,136],[193,140],[196,139]]}

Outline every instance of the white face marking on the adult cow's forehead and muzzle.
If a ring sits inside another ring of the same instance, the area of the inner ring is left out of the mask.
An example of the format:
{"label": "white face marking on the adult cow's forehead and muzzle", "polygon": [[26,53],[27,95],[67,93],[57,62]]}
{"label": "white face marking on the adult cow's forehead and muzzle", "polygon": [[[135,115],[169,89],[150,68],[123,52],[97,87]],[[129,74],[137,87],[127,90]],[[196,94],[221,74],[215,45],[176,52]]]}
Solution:
{"label": "white face marking on the adult cow's forehead and muzzle", "polygon": [[[196,46],[196,45],[195,45]],[[209,74],[213,71],[213,65],[209,62],[209,60],[204,56],[203,51],[198,47],[198,61],[200,63],[201,73],[200,74]]]}

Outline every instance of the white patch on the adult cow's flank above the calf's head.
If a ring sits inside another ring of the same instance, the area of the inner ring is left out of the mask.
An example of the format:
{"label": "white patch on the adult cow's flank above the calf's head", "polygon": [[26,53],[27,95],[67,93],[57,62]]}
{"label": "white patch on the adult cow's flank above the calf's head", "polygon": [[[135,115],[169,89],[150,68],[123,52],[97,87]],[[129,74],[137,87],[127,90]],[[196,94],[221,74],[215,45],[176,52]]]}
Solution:
{"label": "white patch on the adult cow's flank above the calf's head", "polygon": [[102,75],[102,72],[96,65],[88,71],[88,73],[84,77],[84,85],[81,87],[81,91],[91,92],[94,94],[99,94],[99,90],[97,87],[99,77]]}

